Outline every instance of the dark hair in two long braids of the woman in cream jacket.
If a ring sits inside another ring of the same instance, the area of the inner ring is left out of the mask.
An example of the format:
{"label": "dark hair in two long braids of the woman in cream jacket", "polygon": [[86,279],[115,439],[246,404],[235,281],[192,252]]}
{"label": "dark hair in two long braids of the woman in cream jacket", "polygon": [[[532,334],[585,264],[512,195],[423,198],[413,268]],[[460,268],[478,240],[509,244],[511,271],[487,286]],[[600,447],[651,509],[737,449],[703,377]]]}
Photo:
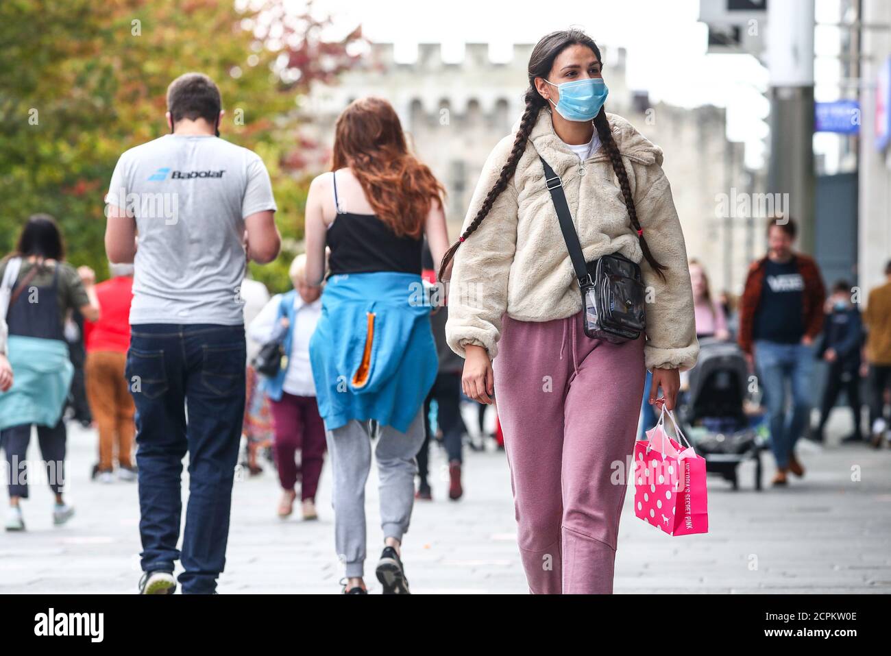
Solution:
{"label": "dark hair in two long braids of the woman in cream jacket", "polygon": [[[598,61],[602,61],[600,48],[597,47],[597,44],[594,43],[591,37],[579,29],[552,32],[535,44],[535,48],[533,48],[532,54],[529,57],[529,87],[524,96],[526,110],[523,111],[523,117],[520,119],[517,138],[513,142],[511,154],[507,161],[504,162],[498,180],[492,185],[489,193],[486,194],[486,199],[479,208],[477,216],[473,217],[470,225],[467,226],[467,229],[464,230],[458,241],[454,242],[449,250],[446,250],[446,255],[443,256],[443,261],[439,265],[437,280],[442,281],[444,279],[446,268],[448,267],[449,262],[454,258],[455,251],[458,250],[458,247],[461,246],[462,242],[474,233],[479,227],[479,224],[483,222],[483,219],[486,218],[489,210],[492,209],[495,199],[507,189],[508,181],[517,170],[517,163],[523,152],[526,151],[526,143],[529,139],[529,134],[532,132],[532,127],[535,126],[535,120],[538,118],[541,109],[547,105],[547,101],[544,100],[542,95],[539,94],[538,90],[535,88],[535,78],[547,78],[557,55],[563,52],[569,45],[575,44],[585,45],[591,48],[593,53],[597,55]],[[601,144],[609,154],[609,161],[618,178],[619,187],[621,188],[622,196],[625,199],[625,207],[628,209],[628,216],[631,218],[631,225],[634,227],[634,230],[637,231],[643,257],[650,263],[650,266],[653,267],[656,273],[664,279],[665,274],[662,272],[667,267],[659,264],[656,258],[653,257],[652,253],[650,253],[650,247],[643,238],[641,224],[637,218],[637,210],[634,209],[634,197],[631,194],[631,185],[628,184],[628,173],[625,170],[625,163],[622,161],[622,155],[618,152],[618,146],[612,138],[612,133],[609,130],[609,121],[607,120],[605,108],[601,108],[600,113],[594,118],[594,127],[597,129],[597,135],[600,137]]]}

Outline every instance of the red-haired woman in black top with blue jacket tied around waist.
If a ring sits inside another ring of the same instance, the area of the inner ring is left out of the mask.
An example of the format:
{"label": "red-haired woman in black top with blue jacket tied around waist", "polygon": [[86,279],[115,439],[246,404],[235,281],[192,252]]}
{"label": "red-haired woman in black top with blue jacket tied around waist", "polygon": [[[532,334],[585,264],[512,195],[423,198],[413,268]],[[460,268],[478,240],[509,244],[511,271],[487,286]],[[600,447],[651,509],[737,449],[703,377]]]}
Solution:
{"label": "red-haired woman in black top with blue jacket tied around waist", "polygon": [[396,111],[379,98],[340,115],[331,172],[307,198],[307,283],[330,273],[312,340],[319,413],[333,479],[335,543],[346,594],[365,594],[365,481],[372,434],[380,472],[384,594],[408,594],[400,545],[414,501],[423,404],[437,374],[421,282],[427,236],[435,263],[448,247],[442,185],[405,143]]}

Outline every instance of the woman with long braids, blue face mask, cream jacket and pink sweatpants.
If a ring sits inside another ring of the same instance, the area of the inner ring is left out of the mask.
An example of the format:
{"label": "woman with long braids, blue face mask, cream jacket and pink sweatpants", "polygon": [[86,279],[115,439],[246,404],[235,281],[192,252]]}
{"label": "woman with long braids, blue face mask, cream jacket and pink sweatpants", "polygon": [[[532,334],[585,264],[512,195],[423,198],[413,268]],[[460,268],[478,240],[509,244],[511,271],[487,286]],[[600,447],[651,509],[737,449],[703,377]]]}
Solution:
{"label": "woman with long braids, blue face mask, cream jacket and pink sweatpants", "polygon": [[[650,403],[671,410],[699,352],[690,272],[662,151],[603,109],[593,40],[544,37],[528,77],[526,111],[486,161],[440,268],[443,280],[454,257],[446,340],[465,358],[464,392],[497,394],[530,592],[611,593],[644,368]],[[539,157],[560,176],[585,261],[618,252],[640,264],[640,339],[584,334]]]}

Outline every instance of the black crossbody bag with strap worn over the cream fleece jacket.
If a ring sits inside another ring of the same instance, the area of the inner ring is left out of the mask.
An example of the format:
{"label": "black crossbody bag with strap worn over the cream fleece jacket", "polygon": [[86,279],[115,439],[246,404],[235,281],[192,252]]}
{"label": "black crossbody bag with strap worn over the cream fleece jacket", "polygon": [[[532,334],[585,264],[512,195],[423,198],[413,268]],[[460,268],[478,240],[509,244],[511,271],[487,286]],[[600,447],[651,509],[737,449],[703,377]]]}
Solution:
{"label": "black crossbody bag with strap worn over the cream fleece jacket", "polygon": [[563,182],[551,166],[540,157],[544,180],[566,241],[569,258],[582,291],[584,334],[614,344],[636,340],[646,328],[645,290],[641,267],[618,253],[584,261],[582,246],[572,223],[572,214],[563,193]]}

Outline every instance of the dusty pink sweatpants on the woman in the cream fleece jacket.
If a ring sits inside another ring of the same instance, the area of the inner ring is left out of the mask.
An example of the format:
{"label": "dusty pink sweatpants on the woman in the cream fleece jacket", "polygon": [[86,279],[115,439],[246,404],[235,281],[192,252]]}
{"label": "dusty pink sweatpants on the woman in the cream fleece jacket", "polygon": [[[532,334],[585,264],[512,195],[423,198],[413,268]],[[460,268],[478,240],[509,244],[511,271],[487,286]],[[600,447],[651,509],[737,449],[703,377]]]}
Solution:
{"label": "dusty pink sweatpants on the woman in the cream fleece jacket", "polygon": [[495,398],[533,594],[612,593],[643,340],[592,340],[581,312],[547,322],[503,317]]}

